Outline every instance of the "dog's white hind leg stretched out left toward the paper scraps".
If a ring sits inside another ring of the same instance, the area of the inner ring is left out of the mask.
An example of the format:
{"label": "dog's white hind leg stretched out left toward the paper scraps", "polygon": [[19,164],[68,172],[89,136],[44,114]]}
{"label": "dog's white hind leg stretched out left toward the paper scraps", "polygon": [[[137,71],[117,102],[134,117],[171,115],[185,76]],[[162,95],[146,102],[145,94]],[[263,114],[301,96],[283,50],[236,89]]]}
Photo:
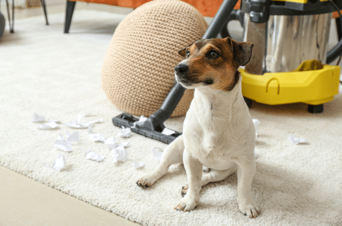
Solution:
{"label": "dog's white hind leg stretched out left toward the paper scraps", "polygon": [[156,169],[154,169],[152,173],[145,175],[143,178],[136,181],[136,184],[145,188],[151,186],[167,173],[170,165],[183,162],[183,151],[183,135],[180,135],[165,148]]}

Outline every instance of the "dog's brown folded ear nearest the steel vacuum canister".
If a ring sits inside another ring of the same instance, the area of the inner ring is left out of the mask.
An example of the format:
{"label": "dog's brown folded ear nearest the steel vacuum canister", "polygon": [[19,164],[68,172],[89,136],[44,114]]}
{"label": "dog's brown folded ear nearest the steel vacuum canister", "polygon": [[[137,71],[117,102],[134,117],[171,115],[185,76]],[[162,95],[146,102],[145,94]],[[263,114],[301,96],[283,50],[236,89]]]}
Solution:
{"label": "dog's brown folded ear nearest the steel vacuum canister", "polygon": [[231,46],[234,55],[234,60],[240,65],[245,66],[251,56],[253,44],[250,42],[237,42],[227,37],[228,45]]}

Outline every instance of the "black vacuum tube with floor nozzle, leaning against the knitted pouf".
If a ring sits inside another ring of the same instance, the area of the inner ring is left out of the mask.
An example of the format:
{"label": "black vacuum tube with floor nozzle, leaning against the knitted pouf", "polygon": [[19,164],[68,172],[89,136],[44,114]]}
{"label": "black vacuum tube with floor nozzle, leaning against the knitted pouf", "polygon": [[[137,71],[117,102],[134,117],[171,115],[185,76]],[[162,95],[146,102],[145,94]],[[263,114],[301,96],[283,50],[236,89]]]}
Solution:
{"label": "black vacuum tube with floor nozzle, leaning against the knitted pouf", "polygon": [[[202,39],[211,39],[218,36],[222,28],[228,23],[227,15],[230,15],[230,13],[233,11],[237,1],[238,0],[225,0],[222,3]],[[179,100],[182,98],[183,93],[184,88],[179,83],[176,83],[166,96],[162,106],[143,124],[135,125],[135,127],[133,127],[134,122],[138,122],[139,120],[125,113],[113,118],[113,124],[117,127],[130,127],[131,131],[134,133],[170,144],[174,139],[181,135],[181,133],[176,132],[168,136],[162,134],[162,131],[165,128],[163,123],[170,118],[173,110],[176,108]]]}

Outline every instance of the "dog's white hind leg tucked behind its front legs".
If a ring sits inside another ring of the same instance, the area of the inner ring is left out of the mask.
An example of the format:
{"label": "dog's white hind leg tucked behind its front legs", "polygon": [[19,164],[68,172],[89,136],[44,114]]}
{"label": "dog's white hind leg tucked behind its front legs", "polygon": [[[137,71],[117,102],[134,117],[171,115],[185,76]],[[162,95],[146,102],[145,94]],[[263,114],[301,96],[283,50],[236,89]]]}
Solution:
{"label": "dog's white hind leg tucked behind its front legs", "polygon": [[[235,163],[232,163],[232,167],[227,170],[211,169],[209,173],[202,175],[201,186],[203,187],[204,185],[208,183],[224,180],[230,175],[232,175],[233,173],[235,173],[236,170],[237,170],[237,165]],[[182,186],[182,190],[180,192],[182,197],[184,197],[184,195],[186,194],[188,187],[189,186],[187,184]]]}

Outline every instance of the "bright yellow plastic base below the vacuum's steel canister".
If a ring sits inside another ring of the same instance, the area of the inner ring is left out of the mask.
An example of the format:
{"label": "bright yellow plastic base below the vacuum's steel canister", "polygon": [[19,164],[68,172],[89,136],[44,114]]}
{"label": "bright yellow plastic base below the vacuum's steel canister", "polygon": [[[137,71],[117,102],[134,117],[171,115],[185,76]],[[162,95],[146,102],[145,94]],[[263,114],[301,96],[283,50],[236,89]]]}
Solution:
{"label": "bright yellow plastic base below the vacuum's steel canister", "polygon": [[319,105],[338,94],[339,66],[324,65],[322,69],[249,74],[240,68],[242,94],[256,102],[275,105],[303,102]]}

